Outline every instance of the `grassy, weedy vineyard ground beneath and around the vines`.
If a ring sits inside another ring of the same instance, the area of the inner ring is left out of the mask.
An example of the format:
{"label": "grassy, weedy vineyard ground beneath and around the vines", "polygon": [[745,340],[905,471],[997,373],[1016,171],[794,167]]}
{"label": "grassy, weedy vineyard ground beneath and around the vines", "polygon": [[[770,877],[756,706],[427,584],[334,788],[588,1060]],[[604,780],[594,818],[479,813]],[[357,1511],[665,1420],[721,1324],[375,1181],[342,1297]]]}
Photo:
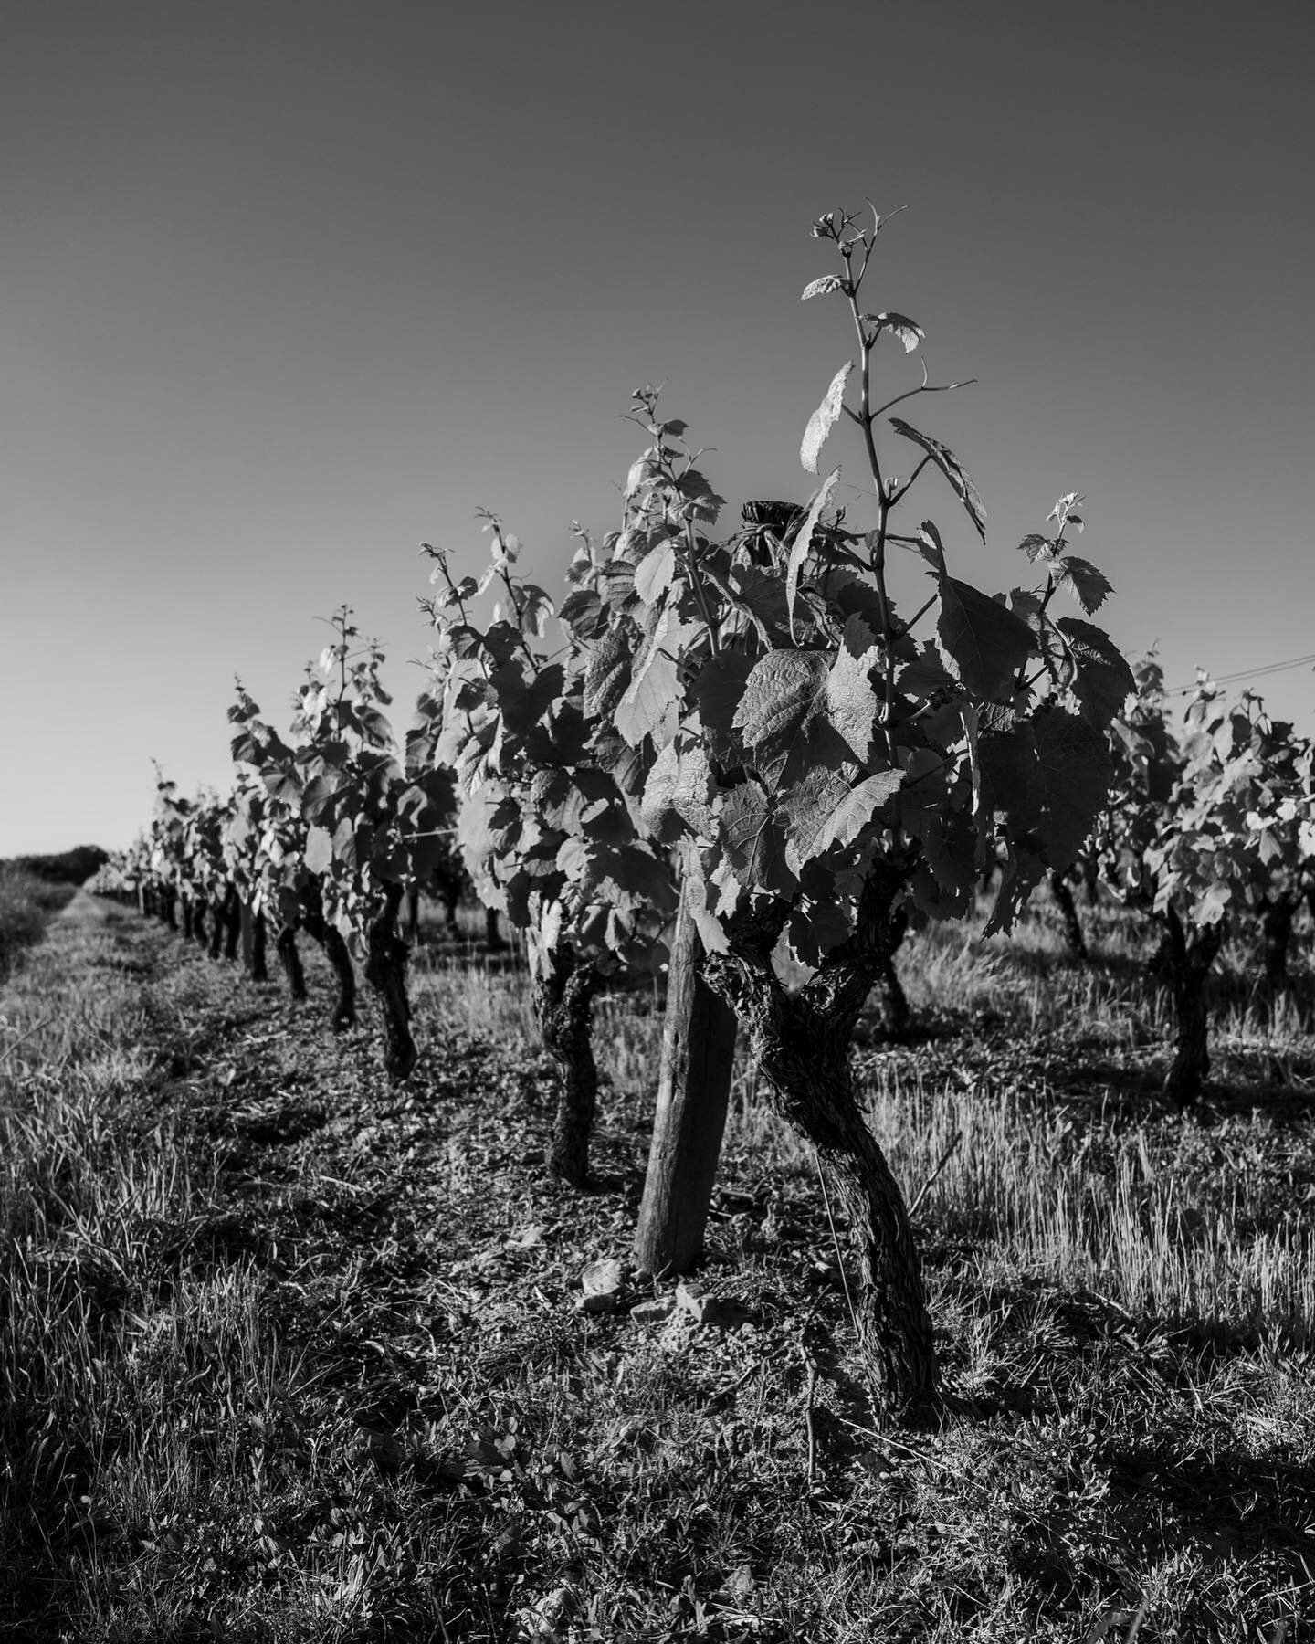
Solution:
{"label": "grassy, weedy vineyard ground beneath and around the vines", "polygon": [[945,1161],[952,1414],[878,1432],[746,1067],[707,1272],[743,1327],[574,1310],[633,1225],[651,990],[597,1008],[579,1197],[541,1182],[514,963],[426,950],[399,1097],[317,963],[291,1008],[79,898],[0,1006],[0,1636],[1308,1636],[1315,1047],[1226,980],[1218,1083],[1169,1115],[1139,932],[1101,911],[1095,945],[1044,909],[916,939],[927,1036],[858,1052],[906,1190]]}

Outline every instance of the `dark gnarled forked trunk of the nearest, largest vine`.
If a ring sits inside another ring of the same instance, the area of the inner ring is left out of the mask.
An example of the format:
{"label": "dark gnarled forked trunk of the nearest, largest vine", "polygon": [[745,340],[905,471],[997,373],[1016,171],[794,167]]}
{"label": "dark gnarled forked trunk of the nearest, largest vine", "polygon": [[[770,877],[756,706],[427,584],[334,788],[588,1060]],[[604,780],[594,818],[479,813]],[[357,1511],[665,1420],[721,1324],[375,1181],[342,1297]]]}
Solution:
{"label": "dark gnarled forked trunk of the nearest, largest vine", "polygon": [[704,975],[748,1029],[773,1106],[817,1149],[840,1202],[863,1282],[858,1328],[888,1411],[917,1411],[939,1392],[922,1259],[899,1184],[868,1129],[850,1072],[850,1042],[865,1000],[894,952],[893,904],[902,878],[884,863],[868,875],[858,932],[787,995],[771,967],[784,909],[741,916],[730,952]]}

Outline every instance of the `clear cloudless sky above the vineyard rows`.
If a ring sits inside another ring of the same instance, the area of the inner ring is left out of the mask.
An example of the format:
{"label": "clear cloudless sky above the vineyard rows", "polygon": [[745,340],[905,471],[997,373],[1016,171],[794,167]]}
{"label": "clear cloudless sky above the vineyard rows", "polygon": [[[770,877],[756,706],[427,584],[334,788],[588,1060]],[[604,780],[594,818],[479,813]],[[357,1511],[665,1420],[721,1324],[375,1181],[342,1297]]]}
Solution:
{"label": "clear cloudless sky above the vineyard rows", "polygon": [[[233,676],[286,727],[342,602],[404,722],[419,543],[477,569],[491,508],[552,590],[639,383],[731,521],[805,500],[807,230],[865,197],[871,307],[976,378],[901,408],[986,503],[919,482],[952,570],[1026,580],[1075,490],[1170,686],[1315,653],[1312,48],[1269,0],[8,5],[0,857],[127,845],[153,758],[227,786]],[[1254,689],[1315,733],[1310,666]]]}

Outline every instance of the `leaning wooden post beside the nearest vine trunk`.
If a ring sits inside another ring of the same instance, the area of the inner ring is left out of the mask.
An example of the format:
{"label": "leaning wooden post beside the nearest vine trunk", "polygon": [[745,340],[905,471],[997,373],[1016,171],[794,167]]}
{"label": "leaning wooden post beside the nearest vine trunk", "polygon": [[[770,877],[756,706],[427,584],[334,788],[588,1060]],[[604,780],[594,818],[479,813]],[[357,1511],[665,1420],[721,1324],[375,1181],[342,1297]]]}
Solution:
{"label": "leaning wooden post beside the nearest vine trunk", "polygon": [[682,893],[667,968],[658,1111],[634,1235],[634,1259],[654,1274],[689,1272],[704,1254],[730,1105],[735,1011],[699,975],[702,952]]}

